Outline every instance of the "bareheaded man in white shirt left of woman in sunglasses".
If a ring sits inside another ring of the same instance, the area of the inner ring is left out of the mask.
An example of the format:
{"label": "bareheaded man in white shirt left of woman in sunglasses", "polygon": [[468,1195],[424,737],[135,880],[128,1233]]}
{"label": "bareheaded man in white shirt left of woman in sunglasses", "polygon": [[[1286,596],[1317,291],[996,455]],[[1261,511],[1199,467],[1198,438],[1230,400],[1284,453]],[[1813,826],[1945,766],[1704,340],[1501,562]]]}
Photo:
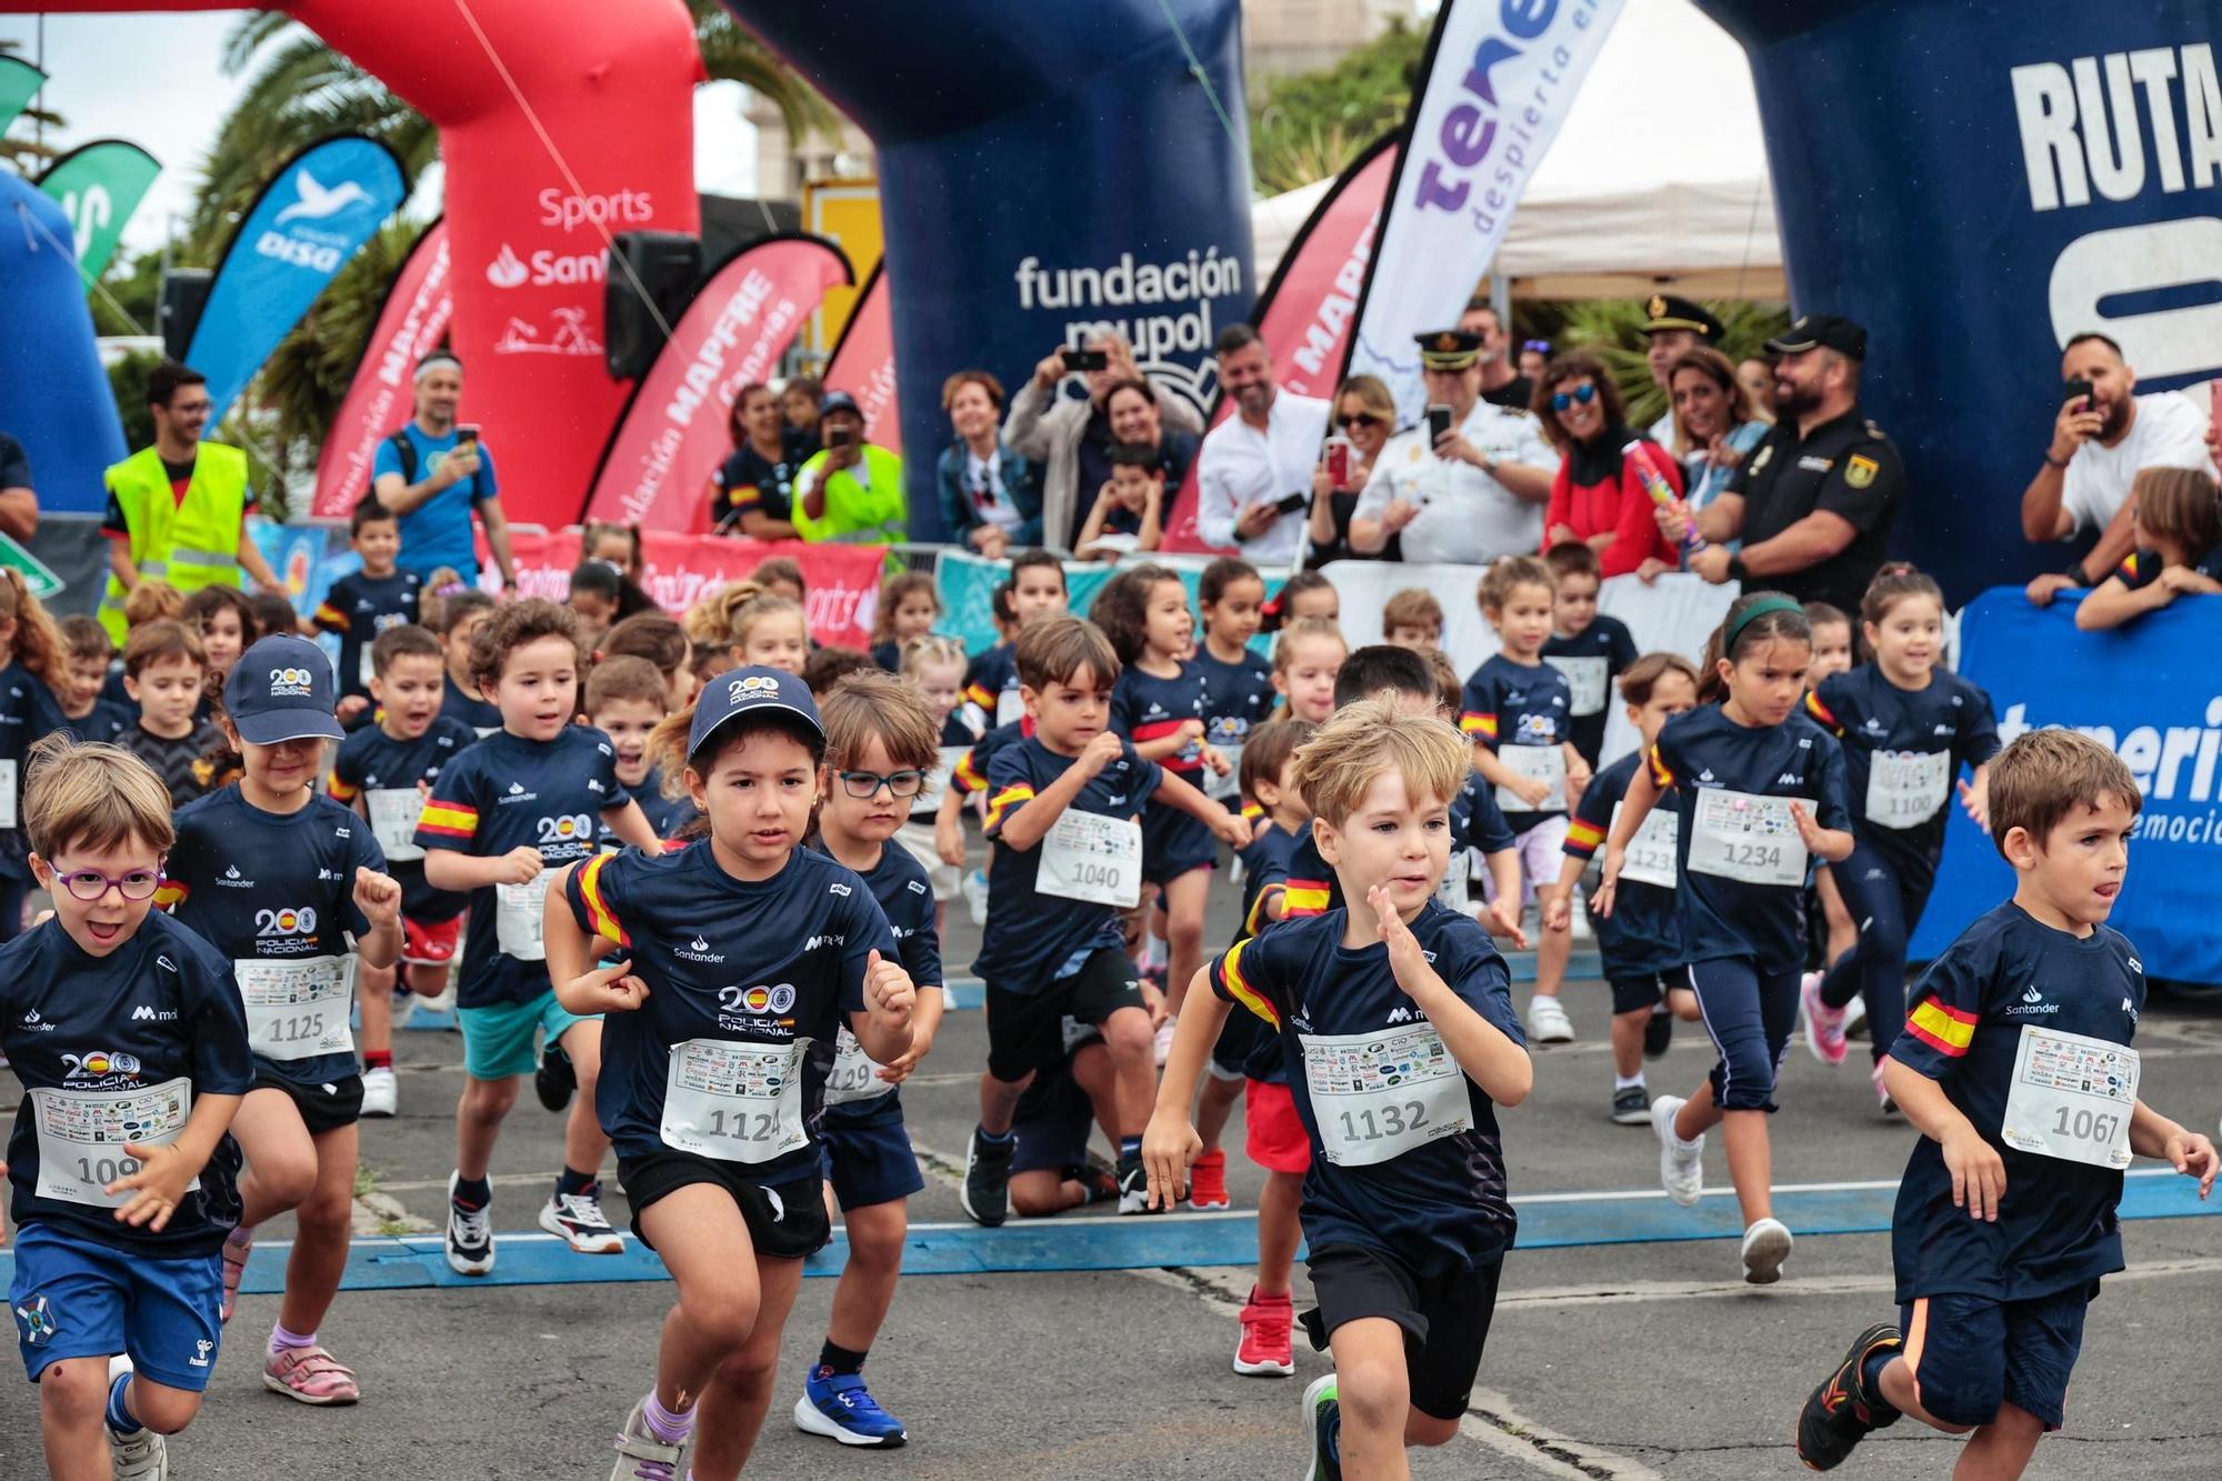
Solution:
{"label": "bareheaded man in white shirt left of woman in sunglasses", "polygon": [[1251,565],[1295,565],[1331,407],[1275,387],[1273,351],[1249,325],[1220,329],[1211,349],[1235,414],[1204,434],[1195,456],[1195,534]]}

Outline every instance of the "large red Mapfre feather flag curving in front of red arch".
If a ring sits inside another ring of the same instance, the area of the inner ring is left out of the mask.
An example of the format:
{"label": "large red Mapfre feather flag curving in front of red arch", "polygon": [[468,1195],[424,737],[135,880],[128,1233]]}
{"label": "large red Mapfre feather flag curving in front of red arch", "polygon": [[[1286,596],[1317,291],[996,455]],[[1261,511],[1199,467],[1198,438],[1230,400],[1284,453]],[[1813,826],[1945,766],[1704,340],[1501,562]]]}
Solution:
{"label": "large red Mapfre feather flag curving in front of red arch", "polygon": [[711,274],[618,418],[584,518],[707,531],[704,487],[733,451],[733,391],[769,380],[824,291],[853,280],[849,258],[815,236],[764,238]]}

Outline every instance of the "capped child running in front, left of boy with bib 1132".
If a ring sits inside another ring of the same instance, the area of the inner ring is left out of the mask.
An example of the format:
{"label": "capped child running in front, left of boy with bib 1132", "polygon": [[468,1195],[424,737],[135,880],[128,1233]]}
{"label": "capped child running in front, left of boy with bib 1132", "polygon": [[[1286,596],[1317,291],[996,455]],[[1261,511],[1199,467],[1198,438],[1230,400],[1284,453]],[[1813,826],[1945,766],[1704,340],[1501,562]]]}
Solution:
{"label": "capped child running in front, left of boy with bib 1132", "polygon": [[709,836],[564,867],[547,950],[562,1010],[611,1014],[593,1099],[633,1234],[678,1285],[611,1474],[731,1481],[771,1405],[802,1256],[831,1234],[813,1047],[847,1027],[900,1063],[915,994],[864,881],[802,847],[824,729],[800,678],[720,674],[658,740],[684,754]]}

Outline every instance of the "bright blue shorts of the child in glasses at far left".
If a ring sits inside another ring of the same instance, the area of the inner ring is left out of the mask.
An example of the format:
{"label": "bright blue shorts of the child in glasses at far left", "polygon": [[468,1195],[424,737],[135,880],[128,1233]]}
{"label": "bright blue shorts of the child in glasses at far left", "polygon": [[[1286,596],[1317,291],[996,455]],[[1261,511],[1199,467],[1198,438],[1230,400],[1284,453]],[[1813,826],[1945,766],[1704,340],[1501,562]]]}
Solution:
{"label": "bright blue shorts of the child in glasses at far left", "polygon": [[33,1383],[58,1359],[129,1352],[140,1376],[198,1394],[224,1339],[224,1259],[127,1254],[31,1223],[7,1301]]}

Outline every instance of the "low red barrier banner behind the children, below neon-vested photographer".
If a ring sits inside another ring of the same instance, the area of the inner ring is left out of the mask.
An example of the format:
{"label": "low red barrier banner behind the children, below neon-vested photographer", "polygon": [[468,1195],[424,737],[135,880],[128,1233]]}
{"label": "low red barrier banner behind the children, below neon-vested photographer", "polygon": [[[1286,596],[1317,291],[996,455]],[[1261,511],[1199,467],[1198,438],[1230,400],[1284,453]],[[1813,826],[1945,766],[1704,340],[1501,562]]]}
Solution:
{"label": "low red barrier banner behind the children, below neon-vested photographer", "polygon": [[[571,571],[580,560],[580,529],[509,527],[509,545],[518,558],[516,596],[544,596],[551,603],[571,596]],[[740,580],[764,560],[787,556],[802,567],[809,596],[802,612],[811,638],[829,647],[871,647],[871,620],[880,612],[880,578],[887,574],[884,545],[804,545],[802,540],[738,540],[693,536],[669,529],[640,531],[640,587],[655,605],[680,616],[687,607],[729,580]],[[478,569],[493,580],[493,558],[487,536],[478,536]]]}

